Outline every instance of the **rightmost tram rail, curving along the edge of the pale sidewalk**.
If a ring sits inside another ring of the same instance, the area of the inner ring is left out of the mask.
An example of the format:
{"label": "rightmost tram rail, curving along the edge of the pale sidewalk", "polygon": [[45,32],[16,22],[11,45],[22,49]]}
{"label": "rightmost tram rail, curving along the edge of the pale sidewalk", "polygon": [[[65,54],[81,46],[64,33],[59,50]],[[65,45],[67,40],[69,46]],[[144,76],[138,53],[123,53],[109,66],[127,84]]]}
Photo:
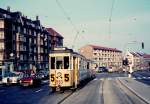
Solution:
{"label": "rightmost tram rail, curving along the edge of the pale sidewalk", "polygon": [[141,100],[144,104],[149,104],[141,96],[139,96],[137,93],[135,93],[133,90],[131,90],[131,88],[129,88],[127,85],[125,85],[120,79],[117,79],[117,83],[119,84],[120,89],[125,92],[125,96],[131,101],[132,104],[135,104],[134,101],[132,100],[133,96],[131,98],[131,96],[129,96],[128,93],[134,95],[134,97],[136,97],[139,100]]}

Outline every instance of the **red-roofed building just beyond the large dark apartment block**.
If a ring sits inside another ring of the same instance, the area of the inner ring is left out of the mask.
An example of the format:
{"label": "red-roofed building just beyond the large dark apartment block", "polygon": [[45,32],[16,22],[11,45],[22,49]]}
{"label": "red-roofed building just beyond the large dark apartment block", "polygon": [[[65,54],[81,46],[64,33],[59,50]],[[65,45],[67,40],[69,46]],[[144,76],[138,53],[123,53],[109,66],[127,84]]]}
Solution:
{"label": "red-roofed building just beyond the large dark apartment block", "polygon": [[58,32],[56,32],[53,28],[46,28],[46,30],[51,34],[51,49],[54,47],[63,46],[63,37]]}

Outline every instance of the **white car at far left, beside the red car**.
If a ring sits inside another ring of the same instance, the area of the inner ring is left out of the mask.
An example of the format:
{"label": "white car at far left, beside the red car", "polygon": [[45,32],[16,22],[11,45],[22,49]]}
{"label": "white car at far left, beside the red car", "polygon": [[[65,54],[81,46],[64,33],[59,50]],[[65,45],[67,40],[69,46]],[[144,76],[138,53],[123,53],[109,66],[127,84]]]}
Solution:
{"label": "white car at far left, beside the red car", "polygon": [[23,73],[8,73],[2,78],[2,83],[6,85],[17,84],[23,77]]}

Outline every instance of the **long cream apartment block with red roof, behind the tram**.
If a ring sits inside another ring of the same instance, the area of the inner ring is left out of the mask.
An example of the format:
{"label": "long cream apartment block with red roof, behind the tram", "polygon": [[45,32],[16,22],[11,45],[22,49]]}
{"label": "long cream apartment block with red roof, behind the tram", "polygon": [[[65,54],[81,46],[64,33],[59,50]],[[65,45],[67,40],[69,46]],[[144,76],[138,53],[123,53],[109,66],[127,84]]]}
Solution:
{"label": "long cream apartment block with red roof, behind the tram", "polygon": [[114,71],[122,68],[122,51],[116,48],[86,45],[81,47],[79,52],[94,61],[98,67],[104,66]]}

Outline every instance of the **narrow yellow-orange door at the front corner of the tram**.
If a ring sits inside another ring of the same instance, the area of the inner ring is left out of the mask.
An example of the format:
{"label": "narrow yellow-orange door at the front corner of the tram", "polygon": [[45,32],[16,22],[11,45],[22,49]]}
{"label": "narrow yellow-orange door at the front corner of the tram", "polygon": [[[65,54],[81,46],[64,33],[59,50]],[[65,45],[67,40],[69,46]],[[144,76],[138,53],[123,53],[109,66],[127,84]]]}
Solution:
{"label": "narrow yellow-orange door at the front corner of the tram", "polygon": [[74,87],[77,88],[78,84],[78,58],[73,56],[73,80]]}

